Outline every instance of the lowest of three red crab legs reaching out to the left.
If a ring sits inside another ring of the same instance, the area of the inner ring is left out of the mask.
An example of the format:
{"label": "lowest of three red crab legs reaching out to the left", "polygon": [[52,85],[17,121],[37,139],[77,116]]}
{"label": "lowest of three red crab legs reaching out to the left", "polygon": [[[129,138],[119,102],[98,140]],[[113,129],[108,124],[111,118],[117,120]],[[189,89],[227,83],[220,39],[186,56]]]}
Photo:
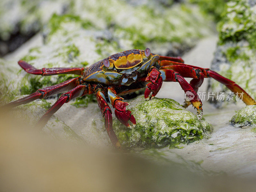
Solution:
{"label": "lowest of three red crab legs reaching out to the left", "polygon": [[51,116],[64,104],[68,103],[70,100],[75,99],[77,97],[82,97],[86,94],[92,94],[91,85],[83,84],[78,85],[74,89],[62,94],[60,99],[58,99],[52,107],[50,107],[46,113],[39,119],[38,128],[42,129],[47,121],[51,118]]}

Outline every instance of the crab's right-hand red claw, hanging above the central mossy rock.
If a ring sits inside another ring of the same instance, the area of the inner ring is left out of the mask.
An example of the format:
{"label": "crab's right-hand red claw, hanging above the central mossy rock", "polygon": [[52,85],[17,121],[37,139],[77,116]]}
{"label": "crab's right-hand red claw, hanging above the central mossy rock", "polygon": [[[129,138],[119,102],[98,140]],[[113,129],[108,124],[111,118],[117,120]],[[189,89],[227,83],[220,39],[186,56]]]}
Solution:
{"label": "crab's right-hand red claw, hanging above the central mossy rock", "polygon": [[[148,81],[149,83],[146,85],[147,88],[145,90],[144,97],[145,99],[153,99],[163,84],[161,73],[157,68],[151,67],[145,81]],[[152,94],[149,96],[151,92]]]}

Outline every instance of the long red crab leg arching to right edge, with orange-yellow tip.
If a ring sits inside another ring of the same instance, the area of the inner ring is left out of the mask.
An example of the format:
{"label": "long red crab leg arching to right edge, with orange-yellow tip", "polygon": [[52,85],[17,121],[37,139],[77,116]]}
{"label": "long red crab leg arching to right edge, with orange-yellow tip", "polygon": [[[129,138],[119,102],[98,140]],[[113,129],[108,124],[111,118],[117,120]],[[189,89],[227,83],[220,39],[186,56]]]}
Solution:
{"label": "long red crab leg arching to right edge, with orange-yellow tip", "polygon": [[244,89],[242,89],[239,85],[237,85],[234,81],[231,81],[230,79],[223,77],[220,74],[208,68],[200,68],[192,65],[186,65],[183,63],[163,60],[160,62],[160,69],[172,69],[175,71],[179,71],[179,73],[182,73],[182,76],[191,77],[191,78],[195,78],[191,74],[191,72],[193,73],[193,71],[191,70],[194,69],[196,71],[196,69],[200,69],[201,72],[204,74],[205,78],[212,77],[215,80],[219,81],[220,83],[224,84],[232,92],[237,94],[243,94],[243,101],[246,105],[256,105],[256,101],[252,99],[252,97],[247,92],[245,92]]}

